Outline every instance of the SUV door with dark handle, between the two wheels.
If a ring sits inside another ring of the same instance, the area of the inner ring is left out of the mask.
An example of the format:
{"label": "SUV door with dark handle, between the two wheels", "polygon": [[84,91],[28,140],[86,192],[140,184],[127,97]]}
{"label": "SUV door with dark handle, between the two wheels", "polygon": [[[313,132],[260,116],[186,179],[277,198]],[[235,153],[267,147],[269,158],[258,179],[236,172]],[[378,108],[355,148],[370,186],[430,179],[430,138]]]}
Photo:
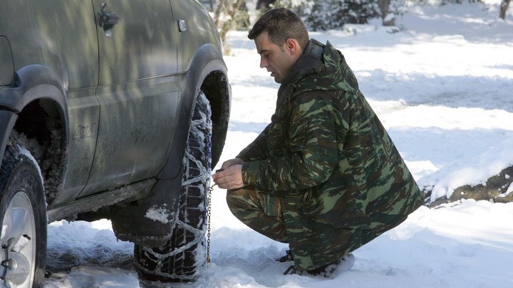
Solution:
{"label": "SUV door with dark handle, between the two wheels", "polygon": [[99,49],[98,141],[81,196],[155,176],[179,96],[169,0],[93,0]]}

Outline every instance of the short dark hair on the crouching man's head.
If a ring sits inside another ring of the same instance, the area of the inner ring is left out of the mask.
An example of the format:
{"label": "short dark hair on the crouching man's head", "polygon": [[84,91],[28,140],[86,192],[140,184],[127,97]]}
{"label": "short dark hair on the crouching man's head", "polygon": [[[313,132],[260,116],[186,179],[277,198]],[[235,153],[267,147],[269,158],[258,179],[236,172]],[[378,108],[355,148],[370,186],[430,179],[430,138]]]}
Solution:
{"label": "short dark hair on the crouching man's head", "polygon": [[254,40],[264,31],[267,31],[269,41],[280,47],[287,39],[294,38],[304,50],[310,40],[301,18],[285,8],[272,9],[262,15],[249,30],[248,38]]}

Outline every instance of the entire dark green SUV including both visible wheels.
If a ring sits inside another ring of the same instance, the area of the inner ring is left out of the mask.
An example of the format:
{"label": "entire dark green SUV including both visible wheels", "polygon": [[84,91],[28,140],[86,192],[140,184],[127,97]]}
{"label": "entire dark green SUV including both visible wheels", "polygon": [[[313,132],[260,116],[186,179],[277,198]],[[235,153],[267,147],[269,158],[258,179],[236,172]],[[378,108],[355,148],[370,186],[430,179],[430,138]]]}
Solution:
{"label": "entire dark green SUV including both visible wheels", "polygon": [[147,278],[204,265],[231,99],[217,29],[195,0],[103,1],[0,0],[6,287],[43,287],[63,219],[110,219]]}

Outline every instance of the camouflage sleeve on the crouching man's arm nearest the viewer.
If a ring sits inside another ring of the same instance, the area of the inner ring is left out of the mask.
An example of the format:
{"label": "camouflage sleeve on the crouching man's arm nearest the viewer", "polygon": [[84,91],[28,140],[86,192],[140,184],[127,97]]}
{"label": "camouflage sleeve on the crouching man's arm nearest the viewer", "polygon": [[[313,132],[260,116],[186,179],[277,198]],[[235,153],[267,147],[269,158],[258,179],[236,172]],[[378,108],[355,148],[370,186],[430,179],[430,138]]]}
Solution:
{"label": "camouflage sleeve on the crouching man's arm nearest the viewer", "polygon": [[270,124],[266,142],[271,156],[244,164],[244,183],[268,191],[298,191],[326,182],[340,158],[337,134],[348,129],[337,111],[337,94],[296,96],[291,108]]}

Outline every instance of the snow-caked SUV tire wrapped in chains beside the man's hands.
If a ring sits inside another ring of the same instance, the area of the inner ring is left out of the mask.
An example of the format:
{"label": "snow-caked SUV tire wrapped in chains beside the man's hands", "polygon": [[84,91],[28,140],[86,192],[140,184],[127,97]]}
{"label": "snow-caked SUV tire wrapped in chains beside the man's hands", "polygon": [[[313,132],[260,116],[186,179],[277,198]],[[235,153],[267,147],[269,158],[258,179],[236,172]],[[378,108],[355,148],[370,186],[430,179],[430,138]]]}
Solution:
{"label": "snow-caked SUV tire wrapped in chains beside the man's hands", "polygon": [[135,266],[143,277],[164,282],[193,281],[205,263],[207,191],[211,171],[212,111],[199,92],[192,114],[182,190],[172,237],[162,247],[135,245]]}

